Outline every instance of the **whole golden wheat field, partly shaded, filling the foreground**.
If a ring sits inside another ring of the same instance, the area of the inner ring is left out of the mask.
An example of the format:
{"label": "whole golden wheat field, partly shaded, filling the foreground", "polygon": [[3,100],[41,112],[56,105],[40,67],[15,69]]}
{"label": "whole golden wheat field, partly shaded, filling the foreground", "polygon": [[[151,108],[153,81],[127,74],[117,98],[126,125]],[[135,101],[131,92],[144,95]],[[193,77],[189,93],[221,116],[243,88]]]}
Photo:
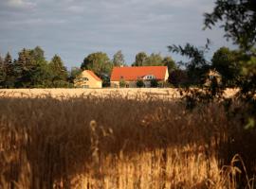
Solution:
{"label": "whole golden wheat field, partly shaded, filling the foreground", "polygon": [[255,187],[255,130],[217,103],[188,111],[174,89],[0,94],[0,188]]}

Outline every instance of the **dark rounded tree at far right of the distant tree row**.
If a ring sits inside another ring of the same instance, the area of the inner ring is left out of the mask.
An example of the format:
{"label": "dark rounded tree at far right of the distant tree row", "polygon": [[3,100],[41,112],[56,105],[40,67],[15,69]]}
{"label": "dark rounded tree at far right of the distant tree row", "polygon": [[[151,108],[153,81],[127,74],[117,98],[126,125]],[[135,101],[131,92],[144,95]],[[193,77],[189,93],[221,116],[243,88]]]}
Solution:
{"label": "dark rounded tree at far right of the distant tree row", "polygon": [[221,47],[214,53],[211,62],[212,68],[221,74],[224,84],[235,84],[242,71],[237,52]]}

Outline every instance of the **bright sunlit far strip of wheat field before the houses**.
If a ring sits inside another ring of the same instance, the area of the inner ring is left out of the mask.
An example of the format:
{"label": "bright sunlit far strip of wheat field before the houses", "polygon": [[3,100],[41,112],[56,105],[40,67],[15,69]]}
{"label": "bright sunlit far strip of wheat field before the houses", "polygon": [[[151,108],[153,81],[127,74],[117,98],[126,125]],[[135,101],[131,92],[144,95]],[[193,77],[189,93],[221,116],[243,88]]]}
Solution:
{"label": "bright sunlit far strip of wheat field before the houses", "polygon": [[[226,96],[232,96],[238,92],[237,89],[227,89]],[[178,89],[175,88],[103,88],[103,89],[0,89],[2,97],[36,97],[47,96],[78,97],[81,95],[93,94],[97,96],[109,96],[119,94],[123,97],[144,97],[151,96],[156,98],[180,98]]]}

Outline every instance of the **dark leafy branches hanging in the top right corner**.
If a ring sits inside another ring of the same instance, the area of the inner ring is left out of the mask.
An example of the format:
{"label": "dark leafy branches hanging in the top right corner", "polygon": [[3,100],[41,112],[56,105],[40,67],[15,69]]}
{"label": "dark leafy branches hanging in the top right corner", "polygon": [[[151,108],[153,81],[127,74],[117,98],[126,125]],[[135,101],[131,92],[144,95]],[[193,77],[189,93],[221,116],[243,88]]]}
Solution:
{"label": "dark leafy branches hanging in the top right corner", "polygon": [[205,13],[205,28],[218,22],[224,28],[227,39],[248,50],[256,43],[256,1],[216,0],[211,13]]}

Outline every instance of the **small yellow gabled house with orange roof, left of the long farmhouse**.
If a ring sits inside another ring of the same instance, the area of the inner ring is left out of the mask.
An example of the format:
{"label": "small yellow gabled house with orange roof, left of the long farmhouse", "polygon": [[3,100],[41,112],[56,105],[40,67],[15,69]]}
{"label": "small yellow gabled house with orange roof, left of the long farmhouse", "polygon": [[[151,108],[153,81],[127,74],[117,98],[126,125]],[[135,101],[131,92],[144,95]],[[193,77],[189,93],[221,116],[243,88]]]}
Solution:
{"label": "small yellow gabled house with orange roof, left of the long farmhouse", "polygon": [[75,78],[74,85],[77,88],[102,88],[102,80],[90,70],[83,70],[82,73]]}

